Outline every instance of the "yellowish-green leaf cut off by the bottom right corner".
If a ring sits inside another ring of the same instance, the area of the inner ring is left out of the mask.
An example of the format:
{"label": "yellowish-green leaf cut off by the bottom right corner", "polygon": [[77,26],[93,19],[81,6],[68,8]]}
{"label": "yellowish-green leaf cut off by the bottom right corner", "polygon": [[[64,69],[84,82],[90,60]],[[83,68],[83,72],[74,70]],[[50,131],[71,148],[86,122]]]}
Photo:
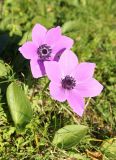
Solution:
{"label": "yellowish-green leaf cut off by the bottom right corner", "polygon": [[103,142],[101,151],[104,152],[109,160],[114,160],[116,158],[116,138],[111,138]]}

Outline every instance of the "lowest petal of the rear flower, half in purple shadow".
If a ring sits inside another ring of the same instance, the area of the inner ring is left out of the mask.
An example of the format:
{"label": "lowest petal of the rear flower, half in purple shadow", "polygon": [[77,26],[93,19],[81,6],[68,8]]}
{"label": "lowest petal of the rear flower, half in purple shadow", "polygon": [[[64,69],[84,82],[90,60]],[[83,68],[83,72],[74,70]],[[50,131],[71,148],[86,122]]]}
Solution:
{"label": "lowest petal of the rear flower, half in purple shadow", "polygon": [[46,74],[45,67],[42,61],[39,61],[37,59],[32,59],[30,61],[30,66],[34,78],[43,77]]}

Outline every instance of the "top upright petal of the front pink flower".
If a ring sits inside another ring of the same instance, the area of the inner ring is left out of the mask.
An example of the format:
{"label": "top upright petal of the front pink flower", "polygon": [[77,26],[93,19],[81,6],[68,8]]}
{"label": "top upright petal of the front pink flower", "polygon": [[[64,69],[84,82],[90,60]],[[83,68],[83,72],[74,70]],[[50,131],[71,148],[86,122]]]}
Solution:
{"label": "top upright petal of the front pink flower", "polygon": [[59,60],[63,76],[70,75],[78,64],[77,56],[70,50],[65,50]]}

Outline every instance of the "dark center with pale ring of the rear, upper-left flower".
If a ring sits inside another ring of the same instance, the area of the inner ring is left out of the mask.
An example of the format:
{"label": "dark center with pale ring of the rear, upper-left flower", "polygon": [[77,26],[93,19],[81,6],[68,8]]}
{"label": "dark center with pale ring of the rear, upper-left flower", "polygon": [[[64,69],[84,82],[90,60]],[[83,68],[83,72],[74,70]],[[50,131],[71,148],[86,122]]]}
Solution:
{"label": "dark center with pale ring of the rear, upper-left flower", "polygon": [[39,58],[42,60],[48,59],[51,56],[51,53],[52,53],[52,49],[47,44],[42,44],[37,49],[37,54],[38,54]]}

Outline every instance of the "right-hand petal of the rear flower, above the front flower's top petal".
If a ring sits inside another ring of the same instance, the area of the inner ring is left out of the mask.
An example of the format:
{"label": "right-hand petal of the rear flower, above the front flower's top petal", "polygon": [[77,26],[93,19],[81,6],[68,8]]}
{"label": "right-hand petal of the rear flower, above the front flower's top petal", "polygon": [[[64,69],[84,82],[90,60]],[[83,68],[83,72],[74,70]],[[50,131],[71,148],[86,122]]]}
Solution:
{"label": "right-hand petal of the rear flower, above the front flower's top petal", "polygon": [[66,36],[62,36],[59,41],[53,46],[53,53],[61,52],[65,49],[70,49],[73,46],[74,41]]}

